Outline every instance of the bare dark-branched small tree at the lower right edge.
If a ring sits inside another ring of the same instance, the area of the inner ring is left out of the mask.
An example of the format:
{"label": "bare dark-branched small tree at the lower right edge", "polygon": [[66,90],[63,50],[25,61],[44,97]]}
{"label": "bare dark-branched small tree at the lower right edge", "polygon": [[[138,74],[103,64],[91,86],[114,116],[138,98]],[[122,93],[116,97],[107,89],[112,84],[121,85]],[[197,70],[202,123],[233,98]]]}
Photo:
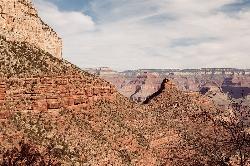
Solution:
{"label": "bare dark-branched small tree at the lower right edge", "polygon": [[223,126],[230,135],[225,142],[239,157],[239,165],[245,166],[250,162],[250,109],[243,102],[231,102],[230,115],[220,118],[218,124]]}

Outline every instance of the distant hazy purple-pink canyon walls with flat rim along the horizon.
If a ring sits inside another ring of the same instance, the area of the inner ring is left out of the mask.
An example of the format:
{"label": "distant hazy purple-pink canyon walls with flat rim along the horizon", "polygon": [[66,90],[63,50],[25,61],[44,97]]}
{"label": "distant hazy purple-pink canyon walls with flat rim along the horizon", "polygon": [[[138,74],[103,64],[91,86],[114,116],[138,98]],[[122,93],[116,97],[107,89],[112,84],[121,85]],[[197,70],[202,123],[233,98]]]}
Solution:
{"label": "distant hazy purple-pink canyon walls with flat rim along the horizon", "polygon": [[120,93],[137,102],[145,101],[160,88],[163,79],[167,78],[180,90],[207,94],[219,105],[227,105],[231,99],[242,99],[250,104],[249,69],[141,69],[116,72],[103,67],[87,71],[111,82]]}

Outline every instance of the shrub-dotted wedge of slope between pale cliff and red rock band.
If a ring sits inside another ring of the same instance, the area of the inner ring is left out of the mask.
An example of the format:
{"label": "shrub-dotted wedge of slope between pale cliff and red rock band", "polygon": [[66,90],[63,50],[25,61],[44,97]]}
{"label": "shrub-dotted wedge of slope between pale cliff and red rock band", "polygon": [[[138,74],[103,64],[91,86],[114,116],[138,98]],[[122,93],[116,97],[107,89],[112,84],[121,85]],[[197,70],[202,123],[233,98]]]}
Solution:
{"label": "shrub-dotted wedge of slope between pale cliff and red rock band", "polygon": [[27,77],[32,75],[64,75],[83,72],[73,64],[60,60],[38,47],[25,42],[7,41],[0,36],[2,77]]}

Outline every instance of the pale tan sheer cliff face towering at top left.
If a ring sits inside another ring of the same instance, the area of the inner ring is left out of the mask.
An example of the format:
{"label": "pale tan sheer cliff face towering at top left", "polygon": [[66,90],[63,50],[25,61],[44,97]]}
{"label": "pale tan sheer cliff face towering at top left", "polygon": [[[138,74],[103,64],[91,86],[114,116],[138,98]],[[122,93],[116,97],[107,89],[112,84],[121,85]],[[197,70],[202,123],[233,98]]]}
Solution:
{"label": "pale tan sheer cliff face towering at top left", "polygon": [[62,58],[62,40],[38,17],[31,0],[0,0],[0,35]]}

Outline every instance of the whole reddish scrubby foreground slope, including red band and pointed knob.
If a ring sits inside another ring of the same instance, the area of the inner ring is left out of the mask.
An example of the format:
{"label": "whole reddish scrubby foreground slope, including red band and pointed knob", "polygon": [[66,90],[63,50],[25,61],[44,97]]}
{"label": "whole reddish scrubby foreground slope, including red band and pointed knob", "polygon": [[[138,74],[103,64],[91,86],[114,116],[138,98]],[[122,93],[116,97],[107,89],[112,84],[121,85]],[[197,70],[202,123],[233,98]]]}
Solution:
{"label": "whole reddish scrubby foreground slope, including red band and pointed knob", "polygon": [[38,48],[0,41],[0,163],[27,165],[35,155],[45,165],[219,165],[237,157],[208,98],[165,80],[138,105]]}

